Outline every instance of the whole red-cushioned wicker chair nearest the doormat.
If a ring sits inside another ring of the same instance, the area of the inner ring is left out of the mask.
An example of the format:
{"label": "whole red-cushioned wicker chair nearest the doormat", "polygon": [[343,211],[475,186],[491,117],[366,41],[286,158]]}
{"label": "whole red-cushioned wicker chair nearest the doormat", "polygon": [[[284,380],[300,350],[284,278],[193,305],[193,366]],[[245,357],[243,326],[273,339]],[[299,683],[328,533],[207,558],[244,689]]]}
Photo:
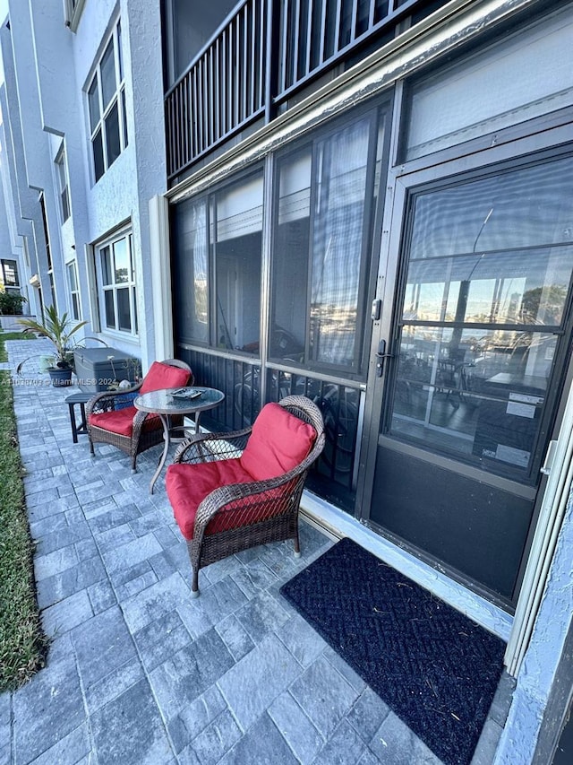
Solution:
{"label": "whole red-cushioned wicker chair nearest the doormat", "polygon": [[266,404],[252,428],[192,436],[175,452],[167,496],[199,569],[258,544],[295,541],[309,467],[324,448],[321,411],[305,396]]}

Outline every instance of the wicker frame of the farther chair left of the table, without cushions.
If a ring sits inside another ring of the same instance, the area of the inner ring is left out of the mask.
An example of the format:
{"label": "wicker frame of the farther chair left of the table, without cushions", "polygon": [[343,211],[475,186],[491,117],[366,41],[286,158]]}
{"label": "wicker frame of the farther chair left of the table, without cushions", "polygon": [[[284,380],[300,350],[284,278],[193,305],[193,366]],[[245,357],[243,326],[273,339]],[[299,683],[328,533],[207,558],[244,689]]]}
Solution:
{"label": "wicker frame of the farther chair left of the table, without cushions", "polygon": [[[193,384],[192,370],[188,364],[178,359],[167,359],[162,361],[163,364],[168,364],[170,367],[178,367],[179,369],[186,369],[189,372],[189,385]],[[90,414],[98,414],[102,412],[109,412],[115,409],[115,404],[125,401],[126,396],[130,396],[141,388],[143,380],[133,387],[123,388],[122,390],[106,390],[102,393],[96,394],[86,404],[86,421],[88,426],[88,438],[90,439],[90,454],[95,455],[94,444],[111,444],[113,447],[121,449],[124,454],[130,457],[132,461],[132,472],[135,473],[137,456],[141,452],[151,447],[158,446],[163,443],[163,428],[156,428],[151,430],[144,430],[143,425],[148,417],[153,416],[147,412],[138,412],[133,417],[133,433],[130,436],[122,436],[118,433],[112,433],[110,430],[104,430],[98,428],[96,425],[90,424]],[[173,419],[173,418],[172,418]],[[183,422],[183,418],[181,418]],[[181,425],[182,422],[173,421],[174,425]]]}

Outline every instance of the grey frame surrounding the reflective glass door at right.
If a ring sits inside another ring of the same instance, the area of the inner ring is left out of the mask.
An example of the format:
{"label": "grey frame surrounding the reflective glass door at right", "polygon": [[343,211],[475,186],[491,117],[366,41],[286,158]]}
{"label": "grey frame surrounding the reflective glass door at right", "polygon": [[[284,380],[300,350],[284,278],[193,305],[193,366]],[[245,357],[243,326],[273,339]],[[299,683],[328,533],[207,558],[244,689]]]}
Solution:
{"label": "grey frame surrounding the reflective glass door at right", "polygon": [[[398,101],[398,99],[397,99]],[[395,130],[398,124],[398,117],[395,118]],[[535,132],[537,128],[537,132]],[[376,533],[389,539],[390,542],[398,542],[399,546],[405,546],[406,550],[410,548],[401,544],[398,540],[393,540],[391,535],[382,534],[382,529],[370,521],[374,472],[376,465],[378,441],[380,437],[381,416],[384,407],[384,389],[387,383],[387,368],[385,364],[382,377],[377,376],[378,359],[376,352],[379,349],[379,343],[386,341],[387,350],[391,354],[393,317],[397,309],[397,301],[401,299],[398,294],[398,276],[400,274],[400,259],[405,252],[406,243],[405,232],[407,225],[407,202],[412,192],[419,187],[427,187],[432,183],[439,183],[445,178],[460,178],[467,180],[472,175],[479,175],[487,172],[496,165],[511,161],[516,166],[520,161],[543,160],[546,158],[557,158],[560,154],[571,152],[570,144],[573,142],[573,124],[554,125],[547,122],[546,118],[532,120],[527,130],[524,126],[508,128],[503,132],[503,140],[496,141],[495,135],[492,136],[492,143],[488,149],[483,149],[483,137],[477,142],[468,142],[458,146],[457,156],[452,156],[450,148],[444,152],[437,152],[429,157],[417,159],[410,163],[394,164],[388,173],[386,184],[387,196],[383,214],[381,251],[379,254],[379,272],[377,278],[376,298],[381,300],[381,316],[378,320],[372,321],[372,345],[368,368],[368,379],[365,396],[365,427],[361,442],[361,470],[358,478],[357,489],[357,517],[366,526],[372,527]],[[395,133],[395,135],[397,135]],[[513,135],[513,140],[511,139]],[[395,156],[398,156],[398,138],[394,138],[396,144]],[[569,143],[569,145],[568,145]],[[473,150],[472,150],[472,147]],[[567,374],[567,371],[566,371]],[[568,376],[570,378],[570,375]],[[557,412],[557,418],[552,423],[552,434],[550,438],[555,437],[559,430],[560,417],[562,416],[563,402],[567,396],[567,384],[555,397],[552,403],[553,410]],[[548,391],[549,393],[549,391]],[[447,457],[442,457],[446,462]],[[464,465],[461,465],[462,469]],[[475,470],[470,465],[467,466],[470,471]],[[495,482],[495,476],[491,476]],[[500,479],[501,482],[507,479]],[[524,576],[527,565],[533,565],[530,556],[535,552],[532,547],[535,538],[535,530],[539,520],[540,509],[543,504],[543,495],[546,488],[547,479],[542,477],[541,482],[535,488],[536,499],[532,515],[529,534],[526,538],[524,554],[517,574],[517,604],[526,594],[521,591],[524,584]],[[515,482],[512,482],[515,486]],[[524,486],[524,489],[527,487]],[[416,552],[414,552],[416,554]],[[417,556],[420,557],[420,556]],[[432,557],[422,558],[424,561],[435,561]],[[450,576],[450,574],[447,574]],[[463,586],[468,586],[469,581],[461,580]],[[472,591],[478,595],[484,596],[490,602],[495,603],[495,599],[490,592],[482,592],[479,587],[471,587]],[[505,604],[507,606],[507,604]]]}

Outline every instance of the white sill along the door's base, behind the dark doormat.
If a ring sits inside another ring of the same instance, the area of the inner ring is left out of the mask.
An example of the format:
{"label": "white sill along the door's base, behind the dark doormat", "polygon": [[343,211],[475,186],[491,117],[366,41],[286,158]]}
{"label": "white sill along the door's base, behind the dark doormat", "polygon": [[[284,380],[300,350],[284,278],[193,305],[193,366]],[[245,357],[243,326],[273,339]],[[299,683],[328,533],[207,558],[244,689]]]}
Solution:
{"label": "white sill along the door's base, behind the dark doormat", "polygon": [[485,630],[490,630],[503,640],[509,639],[513,622],[509,613],[363,526],[344,510],[338,510],[309,491],[304,491],[301,513],[330,538],[350,537],[405,577],[413,579],[473,622],[481,624]]}

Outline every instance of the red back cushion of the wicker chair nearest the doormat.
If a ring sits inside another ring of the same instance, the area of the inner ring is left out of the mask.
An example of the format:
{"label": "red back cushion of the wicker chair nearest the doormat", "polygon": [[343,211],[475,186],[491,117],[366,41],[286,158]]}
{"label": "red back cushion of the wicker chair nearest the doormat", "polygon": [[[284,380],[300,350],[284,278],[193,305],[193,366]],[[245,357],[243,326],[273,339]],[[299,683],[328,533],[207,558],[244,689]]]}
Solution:
{"label": "red back cushion of the wicker chair nearest the doormat", "polygon": [[255,481],[288,473],[312,449],[316,430],[279,404],[265,404],[252,426],[241,465]]}

